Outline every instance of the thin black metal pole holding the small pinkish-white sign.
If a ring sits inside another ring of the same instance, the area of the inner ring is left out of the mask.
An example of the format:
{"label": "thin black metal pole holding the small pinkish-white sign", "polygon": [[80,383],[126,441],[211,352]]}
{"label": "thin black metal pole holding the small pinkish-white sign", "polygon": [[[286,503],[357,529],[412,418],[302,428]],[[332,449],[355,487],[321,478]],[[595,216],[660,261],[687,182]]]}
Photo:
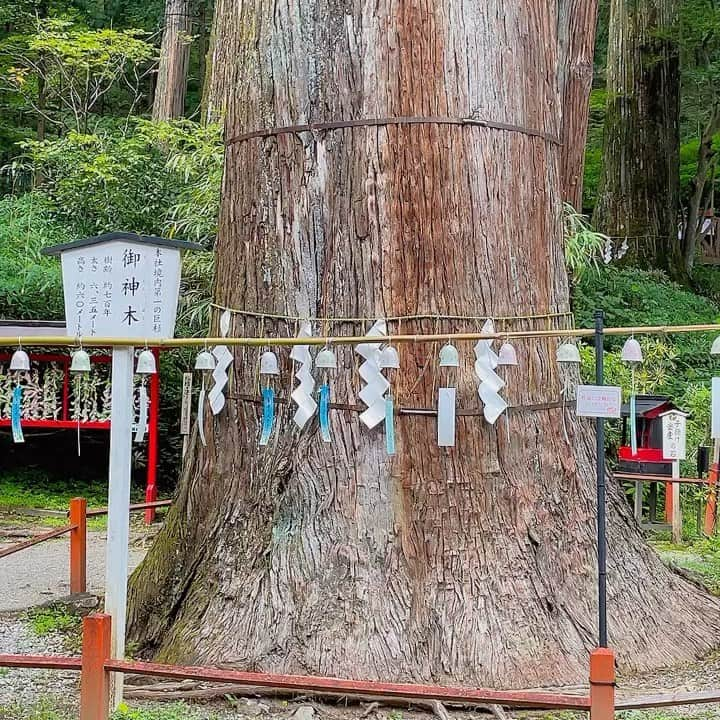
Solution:
{"label": "thin black metal pole holding the small pinkish-white sign", "polygon": [[[604,385],[603,330],[605,314],[595,311],[595,384]],[[598,523],[598,635],[599,646],[607,647],[607,539],[605,533],[605,420],[595,418],[597,439],[597,523]]]}

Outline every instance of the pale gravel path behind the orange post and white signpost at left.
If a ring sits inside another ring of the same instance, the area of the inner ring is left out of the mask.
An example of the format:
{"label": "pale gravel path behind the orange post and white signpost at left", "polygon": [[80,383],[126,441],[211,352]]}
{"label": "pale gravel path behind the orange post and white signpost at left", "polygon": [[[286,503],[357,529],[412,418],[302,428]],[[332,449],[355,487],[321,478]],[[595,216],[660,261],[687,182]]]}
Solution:
{"label": "pale gravel path behind the orange post and white signpost at left", "polygon": [[[1,531],[0,531],[1,534]],[[87,585],[88,591],[103,594],[105,588],[105,541],[104,532],[88,532]],[[18,542],[0,542],[0,549]],[[130,548],[130,570],[145,556],[145,548]],[[70,562],[70,539],[67,536],[35,545],[27,550],[2,559],[2,584],[0,585],[0,613],[25,610],[33,605],[60,598],[70,592],[68,565]],[[0,643],[0,651],[2,644]]]}

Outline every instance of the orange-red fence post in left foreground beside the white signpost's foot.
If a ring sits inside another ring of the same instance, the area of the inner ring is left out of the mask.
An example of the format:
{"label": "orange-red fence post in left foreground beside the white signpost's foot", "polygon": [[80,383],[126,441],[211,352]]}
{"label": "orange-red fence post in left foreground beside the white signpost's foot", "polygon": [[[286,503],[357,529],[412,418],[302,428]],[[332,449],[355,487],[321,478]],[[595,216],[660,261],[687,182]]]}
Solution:
{"label": "orange-red fence post in left foreground beside the white signpost's foot", "polygon": [[82,674],[80,676],[80,720],[108,720],[110,714],[111,619],[95,613],[83,620]]}

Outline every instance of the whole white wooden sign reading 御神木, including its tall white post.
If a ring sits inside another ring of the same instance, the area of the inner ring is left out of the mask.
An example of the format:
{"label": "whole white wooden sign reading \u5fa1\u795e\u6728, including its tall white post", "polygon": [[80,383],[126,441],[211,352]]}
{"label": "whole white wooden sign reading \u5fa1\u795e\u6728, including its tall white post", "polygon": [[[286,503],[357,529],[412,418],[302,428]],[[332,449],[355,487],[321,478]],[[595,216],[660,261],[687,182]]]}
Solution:
{"label": "whole white wooden sign reading \u5fa1\u795e\u6728, including its tall white post", "polygon": [[[184,241],[109,233],[45,250],[60,255],[67,334],[78,339],[171,338],[180,289]],[[134,348],[112,345],[112,405],[108,474],[105,612],[112,617],[111,654],[125,656]],[[113,707],[122,700],[123,676],[115,675]]]}

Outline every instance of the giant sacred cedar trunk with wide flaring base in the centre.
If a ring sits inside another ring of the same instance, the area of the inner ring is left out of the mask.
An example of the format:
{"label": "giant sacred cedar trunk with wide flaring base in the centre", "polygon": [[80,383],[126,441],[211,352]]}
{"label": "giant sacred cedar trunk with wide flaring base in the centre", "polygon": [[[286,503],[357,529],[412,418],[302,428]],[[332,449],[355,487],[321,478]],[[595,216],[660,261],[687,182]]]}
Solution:
{"label": "giant sacred cedar trunk with wide flaring base in the centre", "polygon": [[[271,10],[271,7],[274,10]],[[559,133],[557,7],[533,0],[268,4],[224,0],[226,136],[297,123],[422,116]],[[274,13],[274,14],[273,14]],[[229,60],[228,60],[229,61]],[[568,306],[560,147],[523,130],[426,121],[230,142],[216,301],[301,317],[552,315]],[[507,328],[565,325],[567,316]],[[214,331],[217,331],[217,317]],[[319,334],[362,333],[335,322]],[[452,332],[476,322],[411,321]],[[297,323],[235,316],[234,334]],[[206,419],[166,526],[132,578],[129,626],[168,661],[504,687],[584,682],[596,641],[594,439],[567,417],[556,341],[517,342],[510,438],[458,418],[396,418],[397,454],[356,412],[332,443],[279,405],[258,447],[258,352],[235,353],[226,410]],[[462,346],[458,405],[479,406]],[[332,378],[357,404],[357,355]],[[400,348],[397,404],[435,405],[438,347]],[[279,351],[277,391],[292,364]],[[573,378],[576,380],[576,378]],[[714,644],[719,603],[673,575],[610,490],[610,637],[623,667]]]}

